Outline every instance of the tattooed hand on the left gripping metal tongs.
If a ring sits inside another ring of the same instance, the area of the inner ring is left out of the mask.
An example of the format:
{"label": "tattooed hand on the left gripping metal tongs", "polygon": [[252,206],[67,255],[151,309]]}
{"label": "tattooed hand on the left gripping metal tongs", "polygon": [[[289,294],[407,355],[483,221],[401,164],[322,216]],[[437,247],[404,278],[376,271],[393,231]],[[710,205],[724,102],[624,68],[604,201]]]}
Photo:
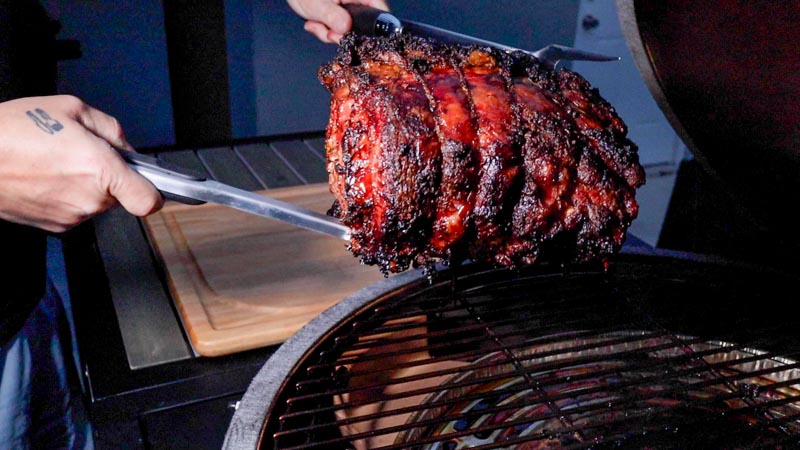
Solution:
{"label": "tattooed hand on the left gripping metal tongs", "polygon": [[119,122],[72,96],[0,103],[0,218],[62,232],[121,204],[145,216],[163,198],[113,147]]}

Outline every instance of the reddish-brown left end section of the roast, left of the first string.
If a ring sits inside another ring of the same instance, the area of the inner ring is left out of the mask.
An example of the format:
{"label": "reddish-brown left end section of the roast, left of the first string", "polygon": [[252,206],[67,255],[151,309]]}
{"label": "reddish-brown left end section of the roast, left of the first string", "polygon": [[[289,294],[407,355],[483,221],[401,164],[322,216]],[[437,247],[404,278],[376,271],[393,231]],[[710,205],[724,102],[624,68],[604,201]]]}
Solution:
{"label": "reddish-brown left end section of the roast, left of the first string", "polygon": [[[321,72],[323,83],[336,92],[343,92],[337,83],[348,84],[354,99],[342,145],[326,142],[333,149],[328,160],[345,163],[343,173],[330,172],[334,195],[344,185],[337,196],[340,217],[352,229],[351,250],[387,272],[403,271],[428,254],[441,159],[425,88],[397,44],[364,41]],[[342,116],[339,104],[346,101],[335,102]],[[331,140],[343,121],[338,116],[328,127]]]}

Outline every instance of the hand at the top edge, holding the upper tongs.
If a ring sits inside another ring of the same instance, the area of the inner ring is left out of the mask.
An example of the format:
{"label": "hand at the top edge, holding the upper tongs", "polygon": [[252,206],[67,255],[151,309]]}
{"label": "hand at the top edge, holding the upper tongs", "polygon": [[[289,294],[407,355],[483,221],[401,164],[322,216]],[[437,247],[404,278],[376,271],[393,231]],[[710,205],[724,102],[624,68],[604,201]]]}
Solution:
{"label": "hand at the top edge, holding the upper tongs", "polygon": [[341,7],[342,4],[355,3],[373,8],[389,10],[384,0],[286,0],[300,17],[306,19],[304,29],[320,41],[336,44],[350,31],[353,20]]}

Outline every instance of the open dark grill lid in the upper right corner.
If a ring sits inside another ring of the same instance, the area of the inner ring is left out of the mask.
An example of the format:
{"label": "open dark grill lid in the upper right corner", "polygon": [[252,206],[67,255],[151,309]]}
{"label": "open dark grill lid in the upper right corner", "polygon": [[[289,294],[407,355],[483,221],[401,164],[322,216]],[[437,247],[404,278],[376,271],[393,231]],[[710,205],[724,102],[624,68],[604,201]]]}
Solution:
{"label": "open dark grill lid in the upper right corner", "polygon": [[639,71],[707,172],[800,245],[800,2],[618,0]]}

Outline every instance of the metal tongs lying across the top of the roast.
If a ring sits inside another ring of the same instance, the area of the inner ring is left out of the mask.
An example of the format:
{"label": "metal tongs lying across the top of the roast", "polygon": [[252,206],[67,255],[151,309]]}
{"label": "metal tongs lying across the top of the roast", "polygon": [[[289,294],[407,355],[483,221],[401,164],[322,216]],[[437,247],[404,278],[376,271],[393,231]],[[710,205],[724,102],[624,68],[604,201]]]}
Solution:
{"label": "metal tongs lying across the top of the roast", "polygon": [[551,69],[555,69],[560,61],[618,61],[618,56],[608,56],[599,53],[587,52],[564,45],[551,44],[535,52],[509,47],[496,42],[478,39],[455,31],[445,30],[424,23],[399,19],[397,16],[370,8],[363,5],[342,5],[353,18],[353,31],[367,36],[391,36],[393,34],[408,34],[431,38],[449,44],[477,45],[492,47],[507,53],[523,52],[541,61]]}

